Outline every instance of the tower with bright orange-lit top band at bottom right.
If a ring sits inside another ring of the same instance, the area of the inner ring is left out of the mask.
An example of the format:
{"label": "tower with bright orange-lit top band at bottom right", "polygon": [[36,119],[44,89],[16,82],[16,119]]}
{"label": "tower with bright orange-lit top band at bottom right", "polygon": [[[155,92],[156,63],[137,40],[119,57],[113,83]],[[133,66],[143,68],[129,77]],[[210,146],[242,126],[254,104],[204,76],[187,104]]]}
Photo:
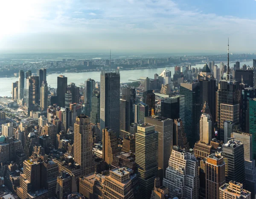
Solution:
{"label": "tower with bright orange-lit top band at bottom right", "polygon": [[219,188],[225,184],[225,162],[221,155],[211,154],[205,165],[206,198],[219,199]]}

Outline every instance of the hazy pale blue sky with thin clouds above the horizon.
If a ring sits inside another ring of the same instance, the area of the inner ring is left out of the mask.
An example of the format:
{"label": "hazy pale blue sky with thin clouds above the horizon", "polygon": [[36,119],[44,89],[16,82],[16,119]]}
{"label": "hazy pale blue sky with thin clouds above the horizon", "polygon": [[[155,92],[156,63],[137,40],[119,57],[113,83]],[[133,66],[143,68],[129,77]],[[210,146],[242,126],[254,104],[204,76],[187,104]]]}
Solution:
{"label": "hazy pale blue sky with thin clouds above the horizon", "polygon": [[256,52],[256,0],[1,0],[0,51]]}

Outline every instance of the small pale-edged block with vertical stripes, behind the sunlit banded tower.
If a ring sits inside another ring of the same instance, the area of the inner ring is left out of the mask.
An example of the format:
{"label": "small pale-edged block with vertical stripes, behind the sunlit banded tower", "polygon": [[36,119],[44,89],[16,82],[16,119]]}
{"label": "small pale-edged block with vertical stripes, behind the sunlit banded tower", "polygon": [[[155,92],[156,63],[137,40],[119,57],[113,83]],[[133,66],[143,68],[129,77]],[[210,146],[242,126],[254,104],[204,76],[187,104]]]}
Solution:
{"label": "small pale-edged block with vertical stripes, behind the sunlit banded tower", "polygon": [[148,116],[148,105],[141,102],[134,104],[134,122],[139,124],[145,123],[145,117]]}

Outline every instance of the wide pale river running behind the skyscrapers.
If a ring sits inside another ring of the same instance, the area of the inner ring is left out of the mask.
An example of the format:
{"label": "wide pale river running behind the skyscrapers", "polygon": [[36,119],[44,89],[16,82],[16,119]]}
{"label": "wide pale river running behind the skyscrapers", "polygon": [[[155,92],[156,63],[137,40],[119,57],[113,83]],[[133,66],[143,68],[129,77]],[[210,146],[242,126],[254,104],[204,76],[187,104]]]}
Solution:
{"label": "wide pale river running behind the skyscrapers", "polygon": [[[227,64],[227,63],[224,63]],[[232,67],[234,63],[230,63],[230,66]],[[242,65],[253,65],[253,61],[248,62],[240,62],[240,67]],[[219,64],[217,64],[219,66]],[[197,64],[193,65],[194,68],[203,68],[203,64]],[[172,72],[172,75],[174,74],[175,67],[166,67],[167,70]],[[149,77],[154,78],[154,74],[160,74],[164,68],[151,68],[151,69],[140,69],[140,70],[130,70],[130,71],[120,71],[120,82],[131,82],[129,80],[137,80],[140,77]],[[60,74],[49,74],[47,76],[47,83],[53,88],[57,88],[57,77]],[[79,83],[87,80],[88,78],[91,78],[95,81],[100,81],[100,72],[93,71],[93,72],[82,72],[82,73],[63,73],[62,75],[65,75],[67,77],[67,82],[74,82],[76,85]],[[0,78],[0,96],[12,96],[12,82],[18,81],[17,77],[2,77]]]}

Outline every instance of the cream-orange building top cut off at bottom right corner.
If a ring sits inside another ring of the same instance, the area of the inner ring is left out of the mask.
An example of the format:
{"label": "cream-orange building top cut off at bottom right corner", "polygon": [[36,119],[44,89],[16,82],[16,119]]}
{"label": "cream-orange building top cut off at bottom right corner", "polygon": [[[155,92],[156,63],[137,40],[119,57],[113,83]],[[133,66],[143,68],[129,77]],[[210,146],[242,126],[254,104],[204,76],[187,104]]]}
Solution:
{"label": "cream-orange building top cut off at bottom right corner", "polygon": [[230,181],[219,188],[219,199],[251,199],[250,191],[243,189],[243,184]]}

